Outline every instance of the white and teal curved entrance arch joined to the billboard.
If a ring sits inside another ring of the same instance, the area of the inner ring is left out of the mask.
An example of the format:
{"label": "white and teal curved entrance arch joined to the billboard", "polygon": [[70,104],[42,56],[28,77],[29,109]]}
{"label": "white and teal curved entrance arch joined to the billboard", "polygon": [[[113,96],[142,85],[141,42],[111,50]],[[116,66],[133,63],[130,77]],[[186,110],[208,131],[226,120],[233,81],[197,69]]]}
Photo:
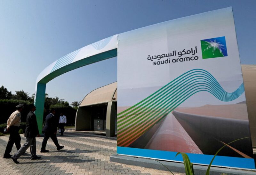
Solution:
{"label": "white and teal curved entrance arch joined to the billboard", "polygon": [[[117,56],[117,34],[69,53],[46,67],[36,79],[34,105],[38,123],[43,123],[46,83],[70,70]],[[42,125],[38,126],[42,132]]]}

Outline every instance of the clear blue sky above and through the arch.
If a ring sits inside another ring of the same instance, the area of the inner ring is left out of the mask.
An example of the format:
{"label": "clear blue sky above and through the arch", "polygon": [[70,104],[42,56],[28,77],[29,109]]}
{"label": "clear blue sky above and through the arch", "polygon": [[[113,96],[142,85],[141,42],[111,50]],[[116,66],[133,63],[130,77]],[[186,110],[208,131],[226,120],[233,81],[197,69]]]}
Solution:
{"label": "clear blue sky above and through the arch", "polygon": [[[256,64],[255,0],[0,1],[0,86],[35,91],[36,78],[60,57],[95,41],[140,27],[233,7],[242,64]],[[253,44],[254,43],[254,44]],[[69,103],[117,80],[117,58],[65,73],[46,84]]]}

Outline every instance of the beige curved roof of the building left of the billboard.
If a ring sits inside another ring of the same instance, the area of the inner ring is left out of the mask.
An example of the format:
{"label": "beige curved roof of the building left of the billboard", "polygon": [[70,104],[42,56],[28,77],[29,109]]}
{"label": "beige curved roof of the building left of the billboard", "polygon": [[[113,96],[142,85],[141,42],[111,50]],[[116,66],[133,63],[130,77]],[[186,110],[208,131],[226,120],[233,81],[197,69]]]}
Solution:
{"label": "beige curved roof of the building left of the billboard", "polygon": [[95,89],[85,96],[80,106],[89,106],[117,101],[117,82]]}

